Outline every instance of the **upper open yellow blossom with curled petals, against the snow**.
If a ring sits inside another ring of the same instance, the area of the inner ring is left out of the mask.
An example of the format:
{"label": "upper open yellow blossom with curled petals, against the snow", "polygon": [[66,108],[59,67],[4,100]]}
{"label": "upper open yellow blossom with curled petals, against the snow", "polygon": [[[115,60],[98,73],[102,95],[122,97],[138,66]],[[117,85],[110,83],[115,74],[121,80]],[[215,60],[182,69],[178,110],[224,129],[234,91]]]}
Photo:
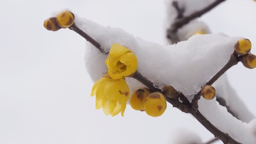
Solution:
{"label": "upper open yellow blossom with curled petals, against the snow", "polygon": [[116,43],[112,44],[105,63],[108,66],[108,74],[114,80],[132,76],[138,68],[135,54]]}

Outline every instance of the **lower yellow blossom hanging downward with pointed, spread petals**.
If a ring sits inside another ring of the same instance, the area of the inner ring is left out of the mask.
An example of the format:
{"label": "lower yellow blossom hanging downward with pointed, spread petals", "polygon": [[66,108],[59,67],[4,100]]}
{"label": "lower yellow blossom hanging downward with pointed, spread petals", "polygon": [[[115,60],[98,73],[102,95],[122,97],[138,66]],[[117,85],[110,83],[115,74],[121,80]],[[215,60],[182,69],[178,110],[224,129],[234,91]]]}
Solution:
{"label": "lower yellow blossom hanging downward with pointed, spread petals", "polygon": [[115,116],[121,112],[124,116],[126,102],[130,96],[130,90],[126,81],[121,78],[113,80],[109,75],[104,75],[92,86],[91,96],[96,95],[96,109],[103,109],[106,115]]}

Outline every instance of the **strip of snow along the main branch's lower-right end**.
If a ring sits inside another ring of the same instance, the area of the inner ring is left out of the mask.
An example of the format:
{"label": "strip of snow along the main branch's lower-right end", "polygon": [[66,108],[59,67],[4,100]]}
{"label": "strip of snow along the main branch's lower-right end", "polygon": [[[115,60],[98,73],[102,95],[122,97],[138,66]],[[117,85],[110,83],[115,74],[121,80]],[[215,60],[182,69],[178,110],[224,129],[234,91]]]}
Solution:
{"label": "strip of snow along the main branch's lower-right end", "polygon": [[256,144],[256,119],[249,123],[242,122],[230,114],[226,107],[215,100],[198,101],[198,109],[216,128],[228,133],[234,140],[242,144]]}

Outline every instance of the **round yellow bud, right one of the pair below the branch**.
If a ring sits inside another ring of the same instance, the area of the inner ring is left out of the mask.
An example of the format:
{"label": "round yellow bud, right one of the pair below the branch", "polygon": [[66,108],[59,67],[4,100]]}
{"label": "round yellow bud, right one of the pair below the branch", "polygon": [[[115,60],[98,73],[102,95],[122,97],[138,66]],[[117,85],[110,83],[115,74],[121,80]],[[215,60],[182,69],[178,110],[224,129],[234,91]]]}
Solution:
{"label": "round yellow bud, right one of the pair below the branch", "polygon": [[160,92],[153,92],[146,98],[144,109],[149,116],[157,117],[164,113],[166,106],[165,96]]}

